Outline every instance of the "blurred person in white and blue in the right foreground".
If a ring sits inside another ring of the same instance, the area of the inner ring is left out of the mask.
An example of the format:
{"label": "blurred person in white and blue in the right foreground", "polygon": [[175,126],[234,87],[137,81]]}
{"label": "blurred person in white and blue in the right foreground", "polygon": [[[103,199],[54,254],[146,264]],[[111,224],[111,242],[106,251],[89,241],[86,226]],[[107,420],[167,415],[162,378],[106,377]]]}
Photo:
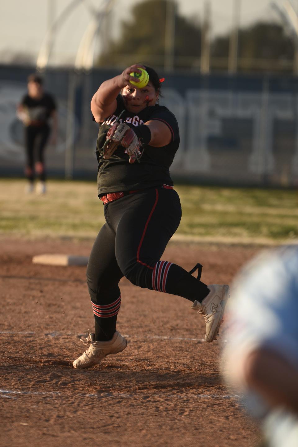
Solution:
{"label": "blurred person in white and blue in the right foreground", "polygon": [[265,445],[298,446],[298,246],[261,253],[235,282],[223,368]]}

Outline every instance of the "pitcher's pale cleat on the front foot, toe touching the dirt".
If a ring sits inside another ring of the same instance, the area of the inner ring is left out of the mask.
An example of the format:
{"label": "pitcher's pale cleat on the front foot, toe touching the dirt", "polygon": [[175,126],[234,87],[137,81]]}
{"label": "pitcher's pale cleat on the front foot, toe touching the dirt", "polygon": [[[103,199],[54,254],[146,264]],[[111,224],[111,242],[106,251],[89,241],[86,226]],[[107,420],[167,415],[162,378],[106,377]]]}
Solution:
{"label": "pitcher's pale cleat on the front foot, toe touching the dirt", "polygon": [[108,342],[94,342],[94,333],[88,329],[86,342],[81,340],[84,345],[90,345],[84,354],[80,355],[72,364],[75,368],[91,368],[101,363],[107,355],[117,354],[123,351],[127,346],[127,341],[119,332],[115,332],[113,338]]}

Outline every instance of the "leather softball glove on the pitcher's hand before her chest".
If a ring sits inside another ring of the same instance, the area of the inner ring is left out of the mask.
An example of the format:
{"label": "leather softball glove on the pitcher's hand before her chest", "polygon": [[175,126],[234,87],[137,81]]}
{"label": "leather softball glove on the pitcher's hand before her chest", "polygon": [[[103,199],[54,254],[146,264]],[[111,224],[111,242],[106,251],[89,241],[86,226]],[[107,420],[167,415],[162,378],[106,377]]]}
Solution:
{"label": "leather softball glove on the pitcher's hand before her chest", "polygon": [[119,145],[126,149],[125,152],[130,156],[130,163],[134,163],[135,160],[139,160],[142,155],[139,150],[141,143],[137,135],[135,135],[133,129],[127,126],[127,124],[115,122],[115,124],[110,127],[105,144],[102,148],[104,159],[108,160]]}

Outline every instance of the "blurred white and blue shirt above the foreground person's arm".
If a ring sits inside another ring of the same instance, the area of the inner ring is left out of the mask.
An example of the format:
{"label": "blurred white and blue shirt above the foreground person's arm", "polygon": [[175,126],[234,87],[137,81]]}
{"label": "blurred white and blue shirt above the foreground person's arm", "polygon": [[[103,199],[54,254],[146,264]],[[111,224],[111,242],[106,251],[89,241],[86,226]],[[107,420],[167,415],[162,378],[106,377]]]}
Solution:
{"label": "blurred white and blue shirt above the foreground person's arm", "polygon": [[235,280],[227,314],[231,349],[271,347],[298,367],[298,246],[251,261]]}

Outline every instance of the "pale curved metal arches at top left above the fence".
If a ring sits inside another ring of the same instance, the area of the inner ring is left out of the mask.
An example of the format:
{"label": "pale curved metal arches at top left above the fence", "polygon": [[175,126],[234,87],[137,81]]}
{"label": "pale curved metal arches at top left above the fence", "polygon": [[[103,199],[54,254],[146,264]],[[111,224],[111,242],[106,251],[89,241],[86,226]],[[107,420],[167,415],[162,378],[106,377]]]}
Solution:
{"label": "pale curved metal arches at top left above the fence", "polygon": [[[96,10],[88,0],[72,0],[71,3],[68,4],[66,8],[64,8],[59,17],[46,31],[45,37],[42,41],[42,45],[38,52],[36,61],[37,70],[42,72],[46,69],[50,58],[50,53],[53,49],[57,31],[61,28],[61,25],[63,25],[64,21],[69,17],[70,13],[72,13],[79,4],[84,4],[84,6],[86,6],[88,12],[92,17],[92,20],[87,30],[85,31],[79,45],[79,50],[76,56],[77,67],[83,68],[85,67],[85,64],[86,67],[89,67],[90,61],[92,61],[93,64],[95,45],[93,46],[93,51],[90,51],[90,45],[92,44],[92,41],[94,41],[94,38],[97,36],[98,30],[101,26],[102,20],[100,21],[100,24],[98,24],[98,18],[105,17],[105,14],[109,12],[109,7],[112,3],[113,0],[103,0],[103,4],[101,4],[99,10]],[[101,9],[104,9],[105,12],[101,12]],[[88,54],[87,57],[85,56],[86,51]]]}

